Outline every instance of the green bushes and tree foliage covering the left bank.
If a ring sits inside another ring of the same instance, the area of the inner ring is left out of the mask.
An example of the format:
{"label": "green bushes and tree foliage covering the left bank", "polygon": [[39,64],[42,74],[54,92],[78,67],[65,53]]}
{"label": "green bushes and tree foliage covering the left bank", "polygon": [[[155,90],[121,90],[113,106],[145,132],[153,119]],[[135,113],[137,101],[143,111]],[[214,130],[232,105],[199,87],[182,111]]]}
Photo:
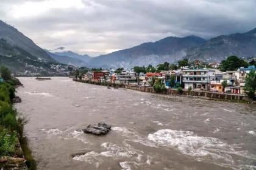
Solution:
{"label": "green bushes and tree foliage covering the left bank", "polygon": [[[35,161],[27,148],[26,138],[23,137],[23,126],[26,121],[19,117],[12,106],[17,80],[11,77],[6,67],[2,66],[0,71],[4,78],[4,82],[0,83],[0,158],[23,157],[25,154],[29,169],[35,169]],[[23,152],[20,149],[20,144]],[[0,167],[9,169],[9,166],[0,162]]]}

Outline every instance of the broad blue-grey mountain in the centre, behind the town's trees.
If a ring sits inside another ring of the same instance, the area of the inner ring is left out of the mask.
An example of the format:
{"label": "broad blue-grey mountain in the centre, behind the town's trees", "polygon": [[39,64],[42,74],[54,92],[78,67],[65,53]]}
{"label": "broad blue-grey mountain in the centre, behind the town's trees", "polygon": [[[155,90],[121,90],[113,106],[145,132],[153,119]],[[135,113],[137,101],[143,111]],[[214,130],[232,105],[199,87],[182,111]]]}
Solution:
{"label": "broad blue-grey mountain in the centre, behind the town's trees", "polygon": [[130,49],[119,50],[107,55],[92,58],[89,62],[93,67],[124,67],[157,65],[168,61],[180,60],[187,55],[186,50],[199,47],[206,42],[197,36],[167,37],[155,42],[146,42]]}

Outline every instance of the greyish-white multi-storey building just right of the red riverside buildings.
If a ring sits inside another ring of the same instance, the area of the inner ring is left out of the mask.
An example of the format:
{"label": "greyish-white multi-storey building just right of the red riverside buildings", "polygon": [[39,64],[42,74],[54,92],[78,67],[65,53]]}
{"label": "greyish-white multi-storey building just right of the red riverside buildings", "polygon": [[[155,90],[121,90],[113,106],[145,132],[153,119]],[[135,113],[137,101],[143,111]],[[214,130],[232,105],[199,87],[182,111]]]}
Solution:
{"label": "greyish-white multi-storey building just right of the red riverside buildings", "polygon": [[122,70],[118,75],[118,81],[121,84],[137,83],[137,73]]}

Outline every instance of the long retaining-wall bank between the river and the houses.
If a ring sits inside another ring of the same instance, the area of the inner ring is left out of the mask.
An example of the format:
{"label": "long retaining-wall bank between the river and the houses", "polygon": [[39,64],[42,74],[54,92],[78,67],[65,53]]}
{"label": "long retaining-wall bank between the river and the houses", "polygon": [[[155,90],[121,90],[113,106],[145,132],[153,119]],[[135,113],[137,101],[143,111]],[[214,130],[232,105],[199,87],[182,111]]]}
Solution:
{"label": "long retaining-wall bank between the river and the houses", "polygon": [[75,78],[73,81],[77,81],[80,83],[89,83],[89,84],[96,84],[100,86],[107,86],[107,87],[120,87],[125,89],[137,90],[140,92],[148,92],[154,94],[163,94],[163,95],[181,95],[181,96],[190,96],[190,97],[199,97],[205,98],[207,100],[218,100],[218,101],[232,101],[238,103],[251,103],[251,100],[247,98],[245,95],[236,95],[236,94],[224,94],[224,93],[216,93],[216,92],[208,92],[208,91],[197,91],[197,90],[185,90],[179,91],[177,89],[166,89],[165,92],[157,93],[155,92],[153,87],[145,87],[145,86],[136,86],[136,85],[129,85],[129,84],[115,84],[115,83],[107,83],[107,82],[93,82],[93,81],[85,81],[85,80],[76,80]]}

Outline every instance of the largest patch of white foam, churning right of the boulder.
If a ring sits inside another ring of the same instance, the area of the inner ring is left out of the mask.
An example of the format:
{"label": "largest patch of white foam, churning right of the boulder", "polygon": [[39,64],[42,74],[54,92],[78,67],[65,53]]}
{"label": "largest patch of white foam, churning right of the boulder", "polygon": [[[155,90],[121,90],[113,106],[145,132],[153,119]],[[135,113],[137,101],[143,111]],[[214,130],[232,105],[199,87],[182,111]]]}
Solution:
{"label": "largest patch of white foam, churning right of the boulder", "polygon": [[197,161],[207,161],[210,156],[211,161],[218,160],[217,165],[234,169],[239,169],[244,165],[235,165],[232,155],[256,160],[256,156],[248,151],[236,151],[235,146],[224,143],[218,138],[199,137],[191,131],[162,129],[149,134],[148,139],[158,146],[177,148],[182,154],[194,156]]}

